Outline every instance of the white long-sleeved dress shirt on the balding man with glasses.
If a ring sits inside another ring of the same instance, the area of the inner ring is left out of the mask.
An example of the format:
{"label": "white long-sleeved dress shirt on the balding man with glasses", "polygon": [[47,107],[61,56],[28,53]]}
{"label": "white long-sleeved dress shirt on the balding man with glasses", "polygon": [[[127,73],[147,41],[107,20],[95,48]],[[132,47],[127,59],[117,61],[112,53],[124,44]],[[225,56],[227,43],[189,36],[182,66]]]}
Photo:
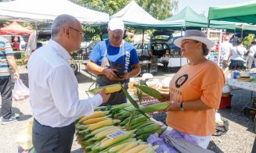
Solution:
{"label": "white long-sleeved dress shirt on the balding man with glasses", "polygon": [[79,100],[78,80],[69,62],[70,55],[56,41],[38,48],[30,57],[27,69],[30,103],[34,118],[45,126],[70,125],[80,116],[91,115],[103,98]]}

